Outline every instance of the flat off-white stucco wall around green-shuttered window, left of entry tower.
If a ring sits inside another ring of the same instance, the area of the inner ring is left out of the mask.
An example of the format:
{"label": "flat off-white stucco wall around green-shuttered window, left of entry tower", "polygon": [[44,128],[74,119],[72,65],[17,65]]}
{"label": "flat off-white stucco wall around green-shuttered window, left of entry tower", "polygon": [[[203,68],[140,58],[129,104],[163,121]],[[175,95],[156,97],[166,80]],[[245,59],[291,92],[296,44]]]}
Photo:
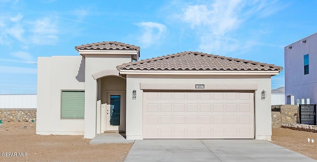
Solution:
{"label": "flat off-white stucco wall around green-shuttered window, left of entry tower", "polygon": [[61,90],[84,90],[81,56],[38,58],[37,134],[84,134],[84,119],[60,119]]}

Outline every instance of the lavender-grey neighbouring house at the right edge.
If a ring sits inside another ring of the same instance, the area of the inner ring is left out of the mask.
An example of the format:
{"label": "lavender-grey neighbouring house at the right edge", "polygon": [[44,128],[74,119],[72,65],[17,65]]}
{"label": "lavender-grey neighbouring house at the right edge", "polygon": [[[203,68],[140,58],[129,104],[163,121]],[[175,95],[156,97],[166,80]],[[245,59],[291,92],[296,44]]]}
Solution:
{"label": "lavender-grey neighbouring house at the right edge", "polygon": [[317,102],[317,33],[284,48],[286,104]]}

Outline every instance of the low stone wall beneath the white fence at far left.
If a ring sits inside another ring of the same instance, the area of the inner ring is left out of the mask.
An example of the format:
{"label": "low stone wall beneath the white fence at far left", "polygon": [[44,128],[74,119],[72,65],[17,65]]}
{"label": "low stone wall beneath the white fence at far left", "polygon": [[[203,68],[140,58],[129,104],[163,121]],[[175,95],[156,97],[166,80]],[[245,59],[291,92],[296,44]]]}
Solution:
{"label": "low stone wall beneath the white fence at far left", "polygon": [[36,120],[36,108],[0,109],[0,120],[2,121],[32,121]]}

